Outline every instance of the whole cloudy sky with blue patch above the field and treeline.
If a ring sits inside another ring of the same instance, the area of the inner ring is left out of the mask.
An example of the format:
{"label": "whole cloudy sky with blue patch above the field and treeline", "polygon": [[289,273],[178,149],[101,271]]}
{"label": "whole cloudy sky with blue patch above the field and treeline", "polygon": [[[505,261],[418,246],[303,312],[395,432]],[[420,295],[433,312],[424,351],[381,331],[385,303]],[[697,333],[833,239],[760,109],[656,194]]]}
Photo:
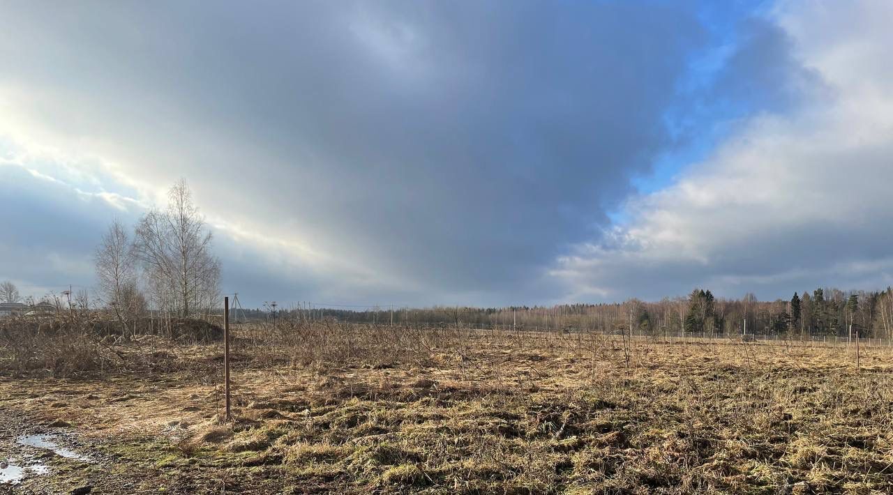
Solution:
{"label": "whole cloudy sky with blue patch above the field and treeline", "polygon": [[186,180],[246,306],[893,284],[893,3],[0,0],[0,280]]}

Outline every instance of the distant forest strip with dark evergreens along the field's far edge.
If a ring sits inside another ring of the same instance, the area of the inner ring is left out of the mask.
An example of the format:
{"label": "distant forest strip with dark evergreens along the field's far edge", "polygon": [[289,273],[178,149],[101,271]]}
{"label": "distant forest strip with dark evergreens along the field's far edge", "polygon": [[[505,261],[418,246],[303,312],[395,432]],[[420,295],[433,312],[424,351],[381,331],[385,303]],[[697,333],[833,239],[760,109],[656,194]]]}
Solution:
{"label": "distant forest strip with dark evergreens along the field's far edge", "polygon": [[840,291],[819,288],[794,293],[789,301],[757,301],[753,294],[733,300],[695,289],[688,297],[647,302],[562,304],[551,307],[472,308],[436,306],[426,309],[239,309],[232,318],[294,319],[391,323],[395,325],[462,325],[480,328],[630,331],[636,334],[772,334],[893,337],[893,289]]}

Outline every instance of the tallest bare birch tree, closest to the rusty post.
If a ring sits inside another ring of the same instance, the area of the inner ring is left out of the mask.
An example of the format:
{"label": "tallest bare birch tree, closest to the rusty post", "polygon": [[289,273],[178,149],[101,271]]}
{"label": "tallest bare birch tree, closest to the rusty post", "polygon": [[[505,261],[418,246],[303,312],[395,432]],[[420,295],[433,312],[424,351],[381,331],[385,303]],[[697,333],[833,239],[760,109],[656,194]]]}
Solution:
{"label": "tallest bare birch tree, closest to the rusty post", "polygon": [[159,309],[189,316],[218,299],[220,261],[182,180],[171,187],[167,210],[150,210],[139,220],[135,246]]}

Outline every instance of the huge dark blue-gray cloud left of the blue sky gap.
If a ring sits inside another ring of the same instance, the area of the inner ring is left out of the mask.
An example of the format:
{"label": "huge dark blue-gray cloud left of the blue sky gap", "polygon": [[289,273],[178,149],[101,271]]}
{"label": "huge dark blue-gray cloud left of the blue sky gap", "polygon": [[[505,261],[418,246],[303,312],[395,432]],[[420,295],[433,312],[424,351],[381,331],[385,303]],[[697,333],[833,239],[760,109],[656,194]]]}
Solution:
{"label": "huge dark blue-gray cloud left of the blue sky gap", "polygon": [[314,253],[294,292],[341,300],[544,298],[672,143],[705,43],[688,4],[227,7],[10,5],[0,131],[146,202],[185,176],[209,218]]}

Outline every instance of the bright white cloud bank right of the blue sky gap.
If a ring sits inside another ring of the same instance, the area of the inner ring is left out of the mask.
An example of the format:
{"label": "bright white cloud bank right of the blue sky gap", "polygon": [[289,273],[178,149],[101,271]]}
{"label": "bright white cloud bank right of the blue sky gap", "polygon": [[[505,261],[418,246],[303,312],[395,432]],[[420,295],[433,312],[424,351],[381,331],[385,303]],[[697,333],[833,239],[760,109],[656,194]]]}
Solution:
{"label": "bright white cloud bank right of the blue sky gap", "polygon": [[571,297],[889,284],[893,4],[793,1],[772,15],[830,92],[739,122],[675,184],[630,198],[623,227],[556,261]]}

